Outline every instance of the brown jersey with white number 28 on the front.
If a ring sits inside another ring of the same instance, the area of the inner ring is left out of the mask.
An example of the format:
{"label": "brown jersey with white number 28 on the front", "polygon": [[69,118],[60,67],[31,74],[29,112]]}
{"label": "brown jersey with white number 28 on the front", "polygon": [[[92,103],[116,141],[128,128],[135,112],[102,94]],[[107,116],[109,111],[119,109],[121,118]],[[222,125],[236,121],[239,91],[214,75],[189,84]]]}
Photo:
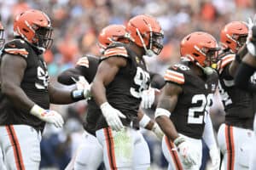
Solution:
{"label": "brown jersey with white number 28 on the front", "polygon": [[201,139],[205,127],[204,117],[212,105],[218,85],[217,72],[199,77],[189,68],[189,62],[182,61],[166,71],[165,79],[166,83],[175,83],[183,89],[170,116],[177,132]]}

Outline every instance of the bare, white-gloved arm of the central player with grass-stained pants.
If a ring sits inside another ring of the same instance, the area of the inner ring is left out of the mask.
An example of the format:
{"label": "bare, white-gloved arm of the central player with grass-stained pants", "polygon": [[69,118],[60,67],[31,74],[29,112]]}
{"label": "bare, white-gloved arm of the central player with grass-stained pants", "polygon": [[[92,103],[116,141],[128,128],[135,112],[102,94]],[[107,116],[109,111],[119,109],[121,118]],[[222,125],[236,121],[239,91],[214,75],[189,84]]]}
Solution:
{"label": "bare, white-gloved arm of the central player with grass-stained pants", "polygon": [[96,77],[90,88],[92,97],[96,100],[96,104],[100,106],[102,114],[108,122],[108,126],[113,130],[120,130],[123,128],[123,124],[119,117],[125,118],[125,116],[108,104],[105,87],[113,81],[119,68],[125,65],[126,59],[121,57],[111,57],[102,60],[101,64],[98,66]]}

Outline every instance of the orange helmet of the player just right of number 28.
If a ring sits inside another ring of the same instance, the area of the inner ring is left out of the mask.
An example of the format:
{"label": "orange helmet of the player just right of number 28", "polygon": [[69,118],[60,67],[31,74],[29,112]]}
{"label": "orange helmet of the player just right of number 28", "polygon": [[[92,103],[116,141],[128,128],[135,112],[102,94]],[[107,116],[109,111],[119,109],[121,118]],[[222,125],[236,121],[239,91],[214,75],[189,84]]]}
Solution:
{"label": "orange helmet of the player just right of number 28", "polygon": [[236,53],[239,48],[246,42],[248,28],[242,21],[233,21],[224,26],[220,33],[220,43],[223,48],[230,48]]}

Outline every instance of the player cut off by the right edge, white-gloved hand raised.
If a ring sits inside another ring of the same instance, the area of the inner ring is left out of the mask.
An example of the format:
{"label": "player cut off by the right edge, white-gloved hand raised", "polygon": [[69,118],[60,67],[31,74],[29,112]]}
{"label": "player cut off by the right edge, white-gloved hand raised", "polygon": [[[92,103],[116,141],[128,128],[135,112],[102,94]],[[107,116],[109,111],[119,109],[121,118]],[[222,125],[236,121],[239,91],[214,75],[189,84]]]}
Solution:
{"label": "player cut off by the right edge, white-gloved hand raised", "polygon": [[[239,69],[236,73],[235,83],[238,88],[247,90],[250,93],[256,92],[255,82],[251,81],[251,76],[256,71],[256,15],[254,15],[253,20],[249,19],[248,27],[249,33],[247,37],[247,51],[248,53],[242,59]],[[253,98],[253,104],[255,105],[255,97]],[[255,106],[254,106],[255,107]],[[253,144],[256,144],[256,119],[254,116],[253,122],[254,130],[254,141]],[[249,169],[256,169],[256,148],[252,145],[249,148],[252,151],[252,156],[249,162]]]}

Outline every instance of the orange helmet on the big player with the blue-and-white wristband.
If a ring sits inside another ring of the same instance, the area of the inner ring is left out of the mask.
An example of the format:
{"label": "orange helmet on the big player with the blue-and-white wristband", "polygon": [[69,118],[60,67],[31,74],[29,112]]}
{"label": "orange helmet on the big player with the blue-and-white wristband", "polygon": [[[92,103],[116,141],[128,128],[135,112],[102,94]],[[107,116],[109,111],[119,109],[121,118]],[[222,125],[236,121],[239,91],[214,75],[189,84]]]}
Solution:
{"label": "orange helmet on the big player with the blue-and-white wristband", "polygon": [[14,34],[22,37],[39,49],[45,50],[52,44],[52,26],[44,12],[29,9],[15,17]]}

